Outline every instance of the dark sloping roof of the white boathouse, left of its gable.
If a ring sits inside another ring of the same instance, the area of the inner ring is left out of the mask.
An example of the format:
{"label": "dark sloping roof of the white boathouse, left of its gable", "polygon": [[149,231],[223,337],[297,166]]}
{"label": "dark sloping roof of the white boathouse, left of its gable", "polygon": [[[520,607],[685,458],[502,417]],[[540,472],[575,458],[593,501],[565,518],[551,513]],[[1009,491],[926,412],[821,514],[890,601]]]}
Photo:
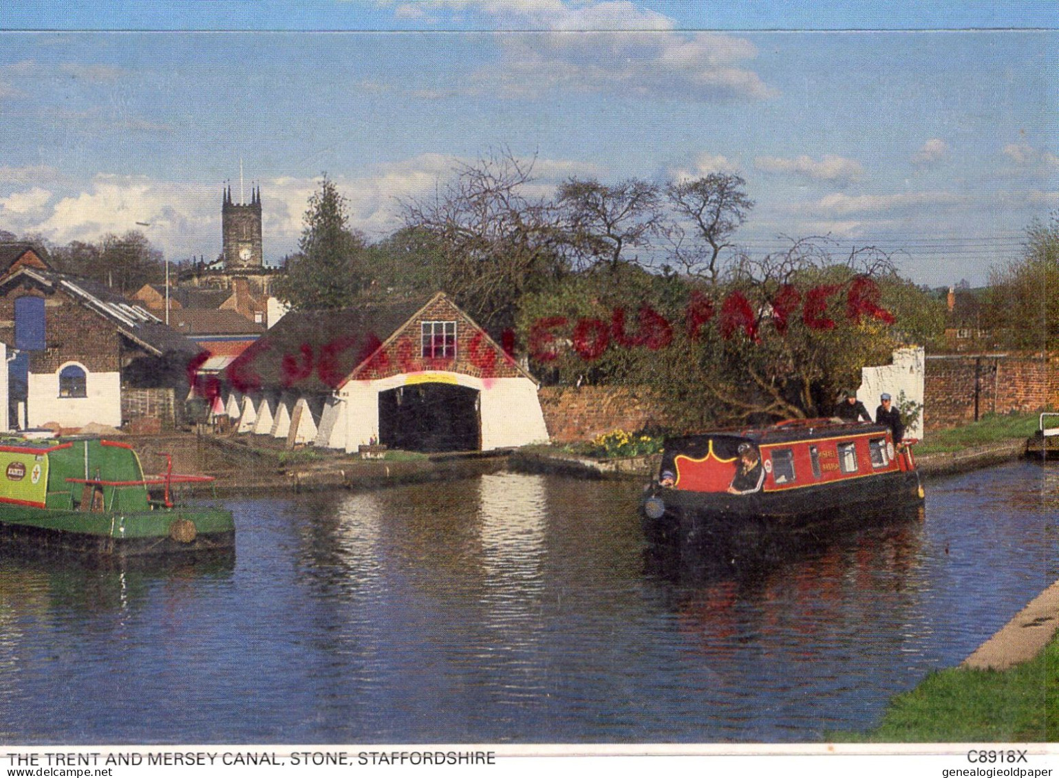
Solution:
{"label": "dark sloping roof of the white boathouse, left of its gable", "polygon": [[320,378],[316,361],[330,352],[333,364],[324,373],[343,380],[388,338],[400,329],[431,297],[393,304],[325,311],[291,311],[247,348],[226,372],[236,388],[283,386],[289,375],[311,362],[311,374],[300,376],[300,392],[329,394],[337,387]]}

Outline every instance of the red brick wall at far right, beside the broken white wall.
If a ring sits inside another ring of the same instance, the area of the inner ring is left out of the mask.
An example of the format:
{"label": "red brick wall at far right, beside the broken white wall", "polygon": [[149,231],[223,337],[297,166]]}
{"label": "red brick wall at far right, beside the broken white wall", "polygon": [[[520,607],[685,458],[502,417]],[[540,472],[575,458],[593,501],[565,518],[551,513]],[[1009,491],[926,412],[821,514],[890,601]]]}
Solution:
{"label": "red brick wall at far right, beside the broken white wall", "polygon": [[928,430],[974,420],[975,362],[979,414],[1031,413],[1059,406],[1059,355],[955,359],[927,358],[923,421]]}

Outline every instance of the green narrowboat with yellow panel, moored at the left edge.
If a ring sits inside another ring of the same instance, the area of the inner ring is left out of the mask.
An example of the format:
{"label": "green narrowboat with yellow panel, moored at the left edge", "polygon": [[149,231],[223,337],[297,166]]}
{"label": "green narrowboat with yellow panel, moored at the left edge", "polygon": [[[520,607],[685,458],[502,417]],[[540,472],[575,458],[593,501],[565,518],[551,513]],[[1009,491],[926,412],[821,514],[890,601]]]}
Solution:
{"label": "green narrowboat with yellow panel, moored at the left edge", "polygon": [[[205,475],[144,475],[126,442],[103,438],[0,441],[0,538],[35,551],[106,556],[231,550],[231,511],[173,503],[175,484]],[[154,491],[154,493],[152,493]]]}

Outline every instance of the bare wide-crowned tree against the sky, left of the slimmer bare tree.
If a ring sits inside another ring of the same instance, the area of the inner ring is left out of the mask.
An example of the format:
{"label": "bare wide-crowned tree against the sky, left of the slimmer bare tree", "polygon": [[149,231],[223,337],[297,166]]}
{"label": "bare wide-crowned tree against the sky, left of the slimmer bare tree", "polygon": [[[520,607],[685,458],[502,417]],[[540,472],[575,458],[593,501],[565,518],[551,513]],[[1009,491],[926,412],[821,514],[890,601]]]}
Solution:
{"label": "bare wide-crowned tree against the sky, left of the slimmer bare tree", "polygon": [[626,249],[647,251],[632,261],[650,264],[652,238],[663,221],[656,184],[634,178],[616,184],[572,178],[559,187],[556,202],[581,267],[606,263],[616,270],[621,261],[629,261]]}

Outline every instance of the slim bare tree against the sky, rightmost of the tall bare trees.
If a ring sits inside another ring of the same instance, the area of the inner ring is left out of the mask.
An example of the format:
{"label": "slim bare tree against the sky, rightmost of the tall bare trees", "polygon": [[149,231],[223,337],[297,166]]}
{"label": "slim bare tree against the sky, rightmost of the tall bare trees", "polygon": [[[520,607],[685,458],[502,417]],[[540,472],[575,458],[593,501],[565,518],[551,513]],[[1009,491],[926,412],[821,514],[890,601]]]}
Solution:
{"label": "slim bare tree against the sky, rightmost of the tall bare trees", "polygon": [[746,187],[741,177],[729,173],[711,173],[666,186],[677,216],[670,233],[672,260],[684,273],[717,284],[721,254],[734,248],[732,236],[754,207]]}

